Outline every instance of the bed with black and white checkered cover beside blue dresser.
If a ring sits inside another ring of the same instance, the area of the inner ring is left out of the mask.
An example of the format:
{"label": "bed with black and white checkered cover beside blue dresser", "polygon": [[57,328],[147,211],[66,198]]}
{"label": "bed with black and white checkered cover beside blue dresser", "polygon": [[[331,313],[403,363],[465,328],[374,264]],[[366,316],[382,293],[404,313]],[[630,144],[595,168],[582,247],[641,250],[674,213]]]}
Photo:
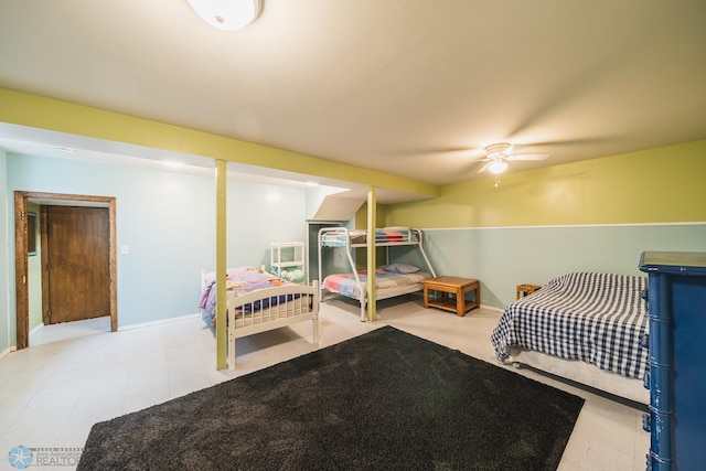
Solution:
{"label": "bed with black and white checkered cover beside blue dresser", "polygon": [[645,288],[638,276],[557,277],[505,308],[491,334],[495,356],[648,404]]}

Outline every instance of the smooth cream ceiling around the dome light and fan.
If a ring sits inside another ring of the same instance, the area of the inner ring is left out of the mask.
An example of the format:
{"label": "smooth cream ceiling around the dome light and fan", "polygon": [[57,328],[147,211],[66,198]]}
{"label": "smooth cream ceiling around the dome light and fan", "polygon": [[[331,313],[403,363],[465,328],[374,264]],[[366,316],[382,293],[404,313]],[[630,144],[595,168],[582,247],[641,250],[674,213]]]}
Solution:
{"label": "smooth cream ceiling around the dome light and fan", "polygon": [[704,0],[265,0],[224,32],[186,0],[0,0],[0,86],[446,184],[499,141],[550,156],[517,171],[706,139],[705,23]]}

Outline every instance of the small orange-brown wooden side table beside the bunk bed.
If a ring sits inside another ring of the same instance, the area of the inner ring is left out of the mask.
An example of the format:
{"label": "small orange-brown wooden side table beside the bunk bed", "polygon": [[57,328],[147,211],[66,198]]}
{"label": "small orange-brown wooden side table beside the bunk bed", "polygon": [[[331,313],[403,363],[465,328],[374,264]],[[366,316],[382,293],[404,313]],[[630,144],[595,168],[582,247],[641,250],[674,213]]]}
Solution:
{"label": "small orange-brown wooden side table beside the bunk bed", "polygon": [[[429,291],[436,295],[429,297]],[[466,302],[466,293],[475,291],[472,302]],[[449,295],[456,295],[451,297]],[[456,312],[463,317],[467,311],[478,308],[481,302],[481,285],[478,280],[458,277],[438,277],[424,282],[424,307]]]}

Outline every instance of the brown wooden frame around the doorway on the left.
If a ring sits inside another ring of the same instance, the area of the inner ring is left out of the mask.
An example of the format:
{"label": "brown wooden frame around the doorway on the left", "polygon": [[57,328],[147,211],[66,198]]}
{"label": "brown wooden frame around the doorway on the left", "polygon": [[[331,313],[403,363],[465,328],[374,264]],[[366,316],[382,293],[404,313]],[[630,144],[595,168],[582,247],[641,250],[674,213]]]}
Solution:
{"label": "brown wooden frame around the doorway on the left", "polygon": [[58,206],[99,206],[108,207],[109,218],[109,256],[108,270],[110,276],[110,331],[118,330],[118,270],[117,270],[117,232],[116,232],[116,199],[114,196],[90,196],[63,193],[14,192],[14,286],[15,286],[15,317],[17,317],[17,349],[29,346],[30,338],[30,297],[28,287],[28,231],[26,203],[38,200],[40,204]]}

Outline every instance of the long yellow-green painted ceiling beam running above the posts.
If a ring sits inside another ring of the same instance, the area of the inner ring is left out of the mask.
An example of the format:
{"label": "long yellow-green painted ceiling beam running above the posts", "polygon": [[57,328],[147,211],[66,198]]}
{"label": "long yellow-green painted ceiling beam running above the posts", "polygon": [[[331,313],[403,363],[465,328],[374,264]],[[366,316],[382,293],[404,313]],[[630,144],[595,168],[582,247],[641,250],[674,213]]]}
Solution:
{"label": "long yellow-green painted ceiling beam running above the posts", "polygon": [[8,88],[0,88],[0,121],[13,125],[204,156],[426,196],[439,194],[437,185],[417,180]]}

